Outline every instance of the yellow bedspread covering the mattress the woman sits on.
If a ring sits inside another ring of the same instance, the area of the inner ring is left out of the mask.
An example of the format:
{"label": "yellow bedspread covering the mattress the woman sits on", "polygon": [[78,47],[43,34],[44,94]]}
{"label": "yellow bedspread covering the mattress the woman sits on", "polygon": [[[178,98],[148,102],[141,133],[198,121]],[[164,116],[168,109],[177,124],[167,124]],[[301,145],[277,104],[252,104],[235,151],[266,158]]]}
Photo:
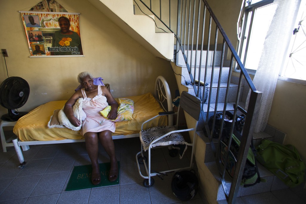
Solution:
{"label": "yellow bedspread covering the mattress the woman sits on", "polygon": [[[141,124],[144,121],[163,111],[151,93],[125,98],[134,101],[133,119],[130,121],[116,122],[116,131],[113,135],[139,133]],[[66,100],[51,101],[30,111],[17,121],[13,129],[14,134],[16,134],[21,141],[84,139],[80,131],[74,131],[68,128],[48,128],[47,124],[54,110],[63,108],[65,103]],[[160,116],[147,124],[147,127],[166,124],[167,117]]]}

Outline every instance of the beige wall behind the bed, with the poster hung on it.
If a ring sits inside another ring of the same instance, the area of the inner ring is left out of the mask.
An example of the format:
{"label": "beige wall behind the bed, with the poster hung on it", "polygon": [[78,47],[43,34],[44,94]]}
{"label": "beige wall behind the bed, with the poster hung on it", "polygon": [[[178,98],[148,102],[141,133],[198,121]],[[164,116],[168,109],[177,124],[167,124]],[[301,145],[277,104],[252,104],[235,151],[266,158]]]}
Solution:
{"label": "beige wall behind the bed, with the poster hung on it", "polygon": [[[29,58],[29,49],[19,10],[29,10],[37,0],[1,0],[0,48],[7,49],[9,77],[28,81],[30,96],[19,111],[30,111],[52,100],[67,100],[78,86],[82,71],[109,83],[114,97],[153,93],[155,79],[163,75],[171,92],[177,89],[170,62],[156,58],[123,32],[88,1],[58,0],[68,12],[80,13],[80,35],[85,57]],[[133,12],[133,11],[131,11]],[[4,58],[0,57],[0,82],[7,78]],[[0,115],[7,109],[0,107]]]}

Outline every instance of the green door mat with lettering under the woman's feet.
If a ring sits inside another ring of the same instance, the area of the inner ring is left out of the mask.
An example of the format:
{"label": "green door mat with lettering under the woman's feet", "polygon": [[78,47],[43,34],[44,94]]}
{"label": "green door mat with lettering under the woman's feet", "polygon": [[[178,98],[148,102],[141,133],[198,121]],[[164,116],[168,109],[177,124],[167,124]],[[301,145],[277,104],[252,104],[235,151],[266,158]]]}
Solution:
{"label": "green door mat with lettering under the woman's feet", "polygon": [[118,161],[118,178],[114,182],[108,180],[110,163],[102,163],[100,165],[101,183],[93,185],[91,183],[91,164],[83,166],[75,166],[70,176],[66,191],[75,191],[86,188],[94,188],[100,186],[110,186],[119,184],[120,163]]}

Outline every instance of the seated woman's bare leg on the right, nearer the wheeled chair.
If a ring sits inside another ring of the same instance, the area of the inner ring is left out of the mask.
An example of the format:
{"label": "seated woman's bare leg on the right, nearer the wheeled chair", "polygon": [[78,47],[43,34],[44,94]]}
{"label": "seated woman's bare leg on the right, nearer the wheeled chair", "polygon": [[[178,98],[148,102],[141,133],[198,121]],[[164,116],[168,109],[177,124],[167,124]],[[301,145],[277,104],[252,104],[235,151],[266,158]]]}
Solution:
{"label": "seated woman's bare leg on the right, nearer the wheeled chair", "polygon": [[104,130],[99,132],[99,140],[104,147],[106,153],[110,157],[110,181],[115,181],[118,176],[118,162],[115,154],[115,145],[113,142],[112,134],[110,130]]}

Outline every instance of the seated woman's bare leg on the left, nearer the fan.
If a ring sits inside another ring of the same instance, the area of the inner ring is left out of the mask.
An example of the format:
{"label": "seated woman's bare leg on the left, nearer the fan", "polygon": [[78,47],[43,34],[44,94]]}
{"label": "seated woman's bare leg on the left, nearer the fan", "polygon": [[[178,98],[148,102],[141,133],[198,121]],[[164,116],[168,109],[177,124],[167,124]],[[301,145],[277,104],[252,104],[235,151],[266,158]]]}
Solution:
{"label": "seated woman's bare leg on the left, nearer the fan", "polygon": [[84,138],[85,138],[86,150],[92,166],[91,181],[94,185],[97,185],[101,182],[100,168],[98,163],[98,156],[99,156],[98,133],[87,132],[84,134]]}

